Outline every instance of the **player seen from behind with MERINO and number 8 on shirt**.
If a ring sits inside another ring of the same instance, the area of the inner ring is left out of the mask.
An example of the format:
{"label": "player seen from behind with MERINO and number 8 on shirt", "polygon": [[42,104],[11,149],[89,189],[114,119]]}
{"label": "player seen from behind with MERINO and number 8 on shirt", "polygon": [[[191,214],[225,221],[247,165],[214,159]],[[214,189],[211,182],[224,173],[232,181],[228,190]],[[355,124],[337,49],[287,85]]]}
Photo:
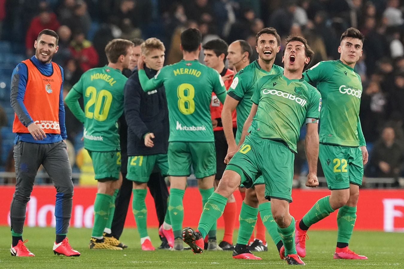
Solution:
{"label": "player seen from behind with MERINO and number 8 on shirt", "polygon": [[[160,85],[166,89],[170,136],[168,139],[168,174],[170,200],[168,211],[174,233],[174,250],[183,250],[181,240],[184,217],[183,196],[191,165],[202,195],[202,205],[213,193],[216,173],[215,139],[210,119],[212,92],[223,103],[226,88],[220,74],[198,62],[202,35],[189,28],[181,33],[183,60],[160,69],[154,79],[148,79],[143,61],[138,61],[139,80],[144,91]],[[213,224],[213,223],[212,223]],[[219,249],[216,221],[210,230],[208,249]]]}

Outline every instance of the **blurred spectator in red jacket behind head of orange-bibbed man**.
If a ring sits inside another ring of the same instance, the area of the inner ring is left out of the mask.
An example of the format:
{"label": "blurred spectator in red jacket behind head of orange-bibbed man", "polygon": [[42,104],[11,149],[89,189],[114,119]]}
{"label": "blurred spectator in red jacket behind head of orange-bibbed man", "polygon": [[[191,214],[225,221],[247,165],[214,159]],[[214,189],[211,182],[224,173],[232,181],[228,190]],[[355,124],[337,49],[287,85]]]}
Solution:
{"label": "blurred spectator in red jacket behind head of orange-bibbed man", "polygon": [[32,19],[27,35],[25,37],[25,48],[27,49],[27,56],[31,57],[34,55],[34,42],[38,38],[38,34],[43,29],[50,29],[57,31],[59,29],[59,21],[56,18],[56,14],[43,8],[39,15]]}

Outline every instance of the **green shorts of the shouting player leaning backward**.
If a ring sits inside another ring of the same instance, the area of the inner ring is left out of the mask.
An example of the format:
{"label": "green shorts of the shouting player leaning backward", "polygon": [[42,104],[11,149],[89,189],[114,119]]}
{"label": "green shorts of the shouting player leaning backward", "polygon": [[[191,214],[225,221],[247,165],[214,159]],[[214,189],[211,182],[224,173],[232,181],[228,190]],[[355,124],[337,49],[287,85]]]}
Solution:
{"label": "green shorts of the shouting player leaning backward", "polygon": [[257,184],[262,175],[265,198],[292,202],[294,161],[295,154],[284,143],[250,134],[231,158],[226,170],[237,172],[246,188]]}

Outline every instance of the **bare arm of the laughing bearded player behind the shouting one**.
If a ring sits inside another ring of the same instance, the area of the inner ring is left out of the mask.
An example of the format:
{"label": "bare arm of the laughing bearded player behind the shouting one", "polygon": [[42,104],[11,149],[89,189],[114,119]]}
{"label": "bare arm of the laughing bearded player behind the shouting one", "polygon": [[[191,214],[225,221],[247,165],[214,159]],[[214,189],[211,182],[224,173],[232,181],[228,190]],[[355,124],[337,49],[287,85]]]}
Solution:
{"label": "bare arm of the laughing bearded player behind the shouting one", "polygon": [[233,118],[231,117],[231,113],[236,109],[238,105],[238,100],[233,97],[227,95],[225,103],[223,104],[222,109],[222,124],[223,124],[223,132],[225,133],[228,149],[227,153],[233,152],[236,150],[237,144],[234,139],[233,134]]}

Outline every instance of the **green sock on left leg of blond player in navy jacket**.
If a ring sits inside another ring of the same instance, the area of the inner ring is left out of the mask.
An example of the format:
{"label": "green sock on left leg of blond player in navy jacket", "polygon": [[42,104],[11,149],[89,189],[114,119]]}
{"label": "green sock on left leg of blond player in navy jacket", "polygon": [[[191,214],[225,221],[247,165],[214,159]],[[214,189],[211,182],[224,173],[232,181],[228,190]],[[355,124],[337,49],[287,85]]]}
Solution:
{"label": "green sock on left leg of blond player in navy jacket", "polygon": [[147,234],[147,208],[145,198],[147,190],[133,189],[132,212],[135,216],[137,231],[140,238],[148,236]]}

